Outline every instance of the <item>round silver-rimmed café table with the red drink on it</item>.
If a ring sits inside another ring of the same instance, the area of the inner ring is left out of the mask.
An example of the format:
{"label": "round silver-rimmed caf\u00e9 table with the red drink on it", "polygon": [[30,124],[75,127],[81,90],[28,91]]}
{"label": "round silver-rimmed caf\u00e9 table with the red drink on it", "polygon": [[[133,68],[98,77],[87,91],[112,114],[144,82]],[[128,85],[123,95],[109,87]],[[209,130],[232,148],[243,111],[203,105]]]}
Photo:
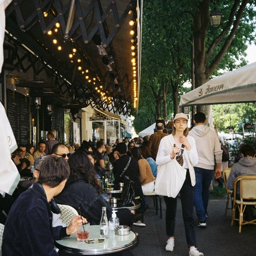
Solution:
{"label": "round silver-rimmed caf\u00e9 table with the red drink on it", "polygon": [[[100,228],[99,225],[90,226],[90,235],[89,239],[100,238]],[[96,255],[96,254],[109,254],[119,251],[126,250],[137,242],[137,236],[133,231],[130,231],[130,234],[125,236],[119,236],[110,231],[109,238],[101,243],[86,243],[86,242],[77,242],[76,233],[71,234],[70,237],[65,237],[62,240],[54,242],[54,245],[61,251],[80,254],[80,255]]]}

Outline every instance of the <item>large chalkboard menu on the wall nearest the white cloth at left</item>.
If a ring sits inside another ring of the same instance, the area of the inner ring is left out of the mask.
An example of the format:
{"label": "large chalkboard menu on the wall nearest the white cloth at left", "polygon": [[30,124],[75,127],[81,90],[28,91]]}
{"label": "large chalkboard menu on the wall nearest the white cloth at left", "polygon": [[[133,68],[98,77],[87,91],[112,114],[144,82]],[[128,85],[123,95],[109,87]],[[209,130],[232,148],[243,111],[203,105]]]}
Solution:
{"label": "large chalkboard menu on the wall nearest the white cloth at left", "polygon": [[7,89],[7,116],[17,144],[30,141],[29,97]]}

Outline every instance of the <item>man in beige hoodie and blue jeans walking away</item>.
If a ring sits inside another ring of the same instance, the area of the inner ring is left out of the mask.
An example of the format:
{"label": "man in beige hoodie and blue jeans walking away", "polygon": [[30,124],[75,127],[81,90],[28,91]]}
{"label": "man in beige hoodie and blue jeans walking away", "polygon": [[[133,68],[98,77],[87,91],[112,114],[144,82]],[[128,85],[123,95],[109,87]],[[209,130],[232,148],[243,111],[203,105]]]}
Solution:
{"label": "man in beige hoodie and blue jeans walking away", "polygon": [[[209,201],[211,180],[221,177],[222,150],[218,135],[205,125],[204,113],[198,112],[194,116],[195,127],[189,135],[196,140],[199,163],[194,166],[196,185],[194,188],[195,207],[199,219],[199,227],[206,227],[206,214]],[[216,169],[214,173],[214,165]]]}

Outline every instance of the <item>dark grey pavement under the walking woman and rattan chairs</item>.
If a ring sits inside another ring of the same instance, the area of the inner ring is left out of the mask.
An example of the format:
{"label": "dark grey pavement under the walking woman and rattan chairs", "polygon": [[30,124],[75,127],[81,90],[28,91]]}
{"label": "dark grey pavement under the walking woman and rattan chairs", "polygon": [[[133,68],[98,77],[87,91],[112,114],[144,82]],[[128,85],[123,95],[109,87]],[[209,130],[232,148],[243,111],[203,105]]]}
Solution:
{"label": "dark grey pavement under the walking woman and rattan chairs", "polygon": [[[156,215],[153,205],[153,198],[147,197],[150,208],[146,210],[144,222],[146,227],[133,226],[132,230],[138,232],[138,242],[131,249],[134,256],[148,255],[170,255],[188,256],[186,246],[185,231],[181,212],[181,203],[178,199],[176,216],[175,247],[173,252],[165,251],[165,203],[162,199],[163,218]],[[197,227],[197,246],[205,256],[236,256],[236,255],[256,255],[256,225],[242,226],[239,233],[238,226],[231,223],[231,210],[225,212],[226,199],[209,200],[207,227],[202,229]],[[196,224],[197,218],[195,215]]]}

